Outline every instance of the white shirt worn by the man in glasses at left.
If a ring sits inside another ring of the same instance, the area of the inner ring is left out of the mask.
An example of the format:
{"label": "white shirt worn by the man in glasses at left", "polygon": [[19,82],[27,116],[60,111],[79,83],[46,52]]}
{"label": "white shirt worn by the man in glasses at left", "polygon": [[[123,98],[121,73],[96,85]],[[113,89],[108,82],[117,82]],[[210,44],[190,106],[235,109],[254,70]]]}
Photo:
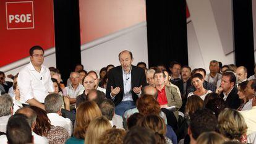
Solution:
{"label": "white shirt worn by the man in glasses at left", "polygon": [[48,67],[41,66],[41,71],[37,72],[30,62],[18,76],[20,88],[20,101],[26,103],[27,100],[35,98],[40,103],[44,103],[49,92],[54,92],[53,82]]}

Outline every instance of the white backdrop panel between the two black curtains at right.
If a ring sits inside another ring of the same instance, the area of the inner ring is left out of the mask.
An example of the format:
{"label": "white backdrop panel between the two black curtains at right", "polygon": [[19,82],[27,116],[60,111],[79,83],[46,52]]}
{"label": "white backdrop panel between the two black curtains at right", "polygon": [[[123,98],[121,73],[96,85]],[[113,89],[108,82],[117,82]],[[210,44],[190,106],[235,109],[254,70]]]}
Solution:
{"label": "white backdrop panel between the two black curtains at right", "polygon": [[234,64],[231,0],[187,0],[189,66],[208,70],[213,59]]}

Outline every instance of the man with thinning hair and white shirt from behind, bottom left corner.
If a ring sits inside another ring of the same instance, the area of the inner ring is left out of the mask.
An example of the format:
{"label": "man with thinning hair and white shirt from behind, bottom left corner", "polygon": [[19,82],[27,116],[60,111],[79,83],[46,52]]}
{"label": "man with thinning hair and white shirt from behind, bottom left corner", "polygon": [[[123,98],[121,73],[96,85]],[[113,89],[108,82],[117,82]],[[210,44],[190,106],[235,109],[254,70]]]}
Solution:
{"label": "man with thinning hair and white shirt from behind, bottom left corner", "polygon": [[27,116],[27,121],[31,127],[35,144],[48,144],[48,140],[45,137],[41,137],[40,135],[37,135],[35,132],[33,132],[33,129],[35,129],[35,125],[36,125],[36,112],[33,111],[33,109],[28,108],[28,107],[21,108],[21,109],[18,109],[18,111],[16,113],[24,114],[25,116]]}

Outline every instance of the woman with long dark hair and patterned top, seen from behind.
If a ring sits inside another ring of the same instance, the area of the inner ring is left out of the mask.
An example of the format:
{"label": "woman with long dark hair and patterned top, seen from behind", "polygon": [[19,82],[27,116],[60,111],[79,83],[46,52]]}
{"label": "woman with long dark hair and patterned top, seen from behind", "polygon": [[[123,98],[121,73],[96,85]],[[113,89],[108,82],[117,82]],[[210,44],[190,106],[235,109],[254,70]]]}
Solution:
{"label": "woman with long dark hair and patterned top, seen from behind", "polygon": [[30,108],[36,112],[36,124],[33,132],[42,137],[46,137],[49,144],[61,144],[66,142],[67,138],[69,138],[69,133],[66,129],[51,125],[46,111],[43,109],[36,106],[30,106]]}

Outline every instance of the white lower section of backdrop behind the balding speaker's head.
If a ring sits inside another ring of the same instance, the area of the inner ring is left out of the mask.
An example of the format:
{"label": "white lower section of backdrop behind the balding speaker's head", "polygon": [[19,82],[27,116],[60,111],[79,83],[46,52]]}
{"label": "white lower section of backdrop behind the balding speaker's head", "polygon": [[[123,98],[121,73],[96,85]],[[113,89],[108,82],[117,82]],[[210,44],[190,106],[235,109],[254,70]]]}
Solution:
{"label": "white lower section of backdrop behind the balding speaker's head", "polygon": [[119,66],[118,54],[125,49],[132,52],[133,65],[143,61],[148,66],[146,22],[84,44],[81,52],[82,64],[85,70],[96,72],[100,72],[108,64]]}

